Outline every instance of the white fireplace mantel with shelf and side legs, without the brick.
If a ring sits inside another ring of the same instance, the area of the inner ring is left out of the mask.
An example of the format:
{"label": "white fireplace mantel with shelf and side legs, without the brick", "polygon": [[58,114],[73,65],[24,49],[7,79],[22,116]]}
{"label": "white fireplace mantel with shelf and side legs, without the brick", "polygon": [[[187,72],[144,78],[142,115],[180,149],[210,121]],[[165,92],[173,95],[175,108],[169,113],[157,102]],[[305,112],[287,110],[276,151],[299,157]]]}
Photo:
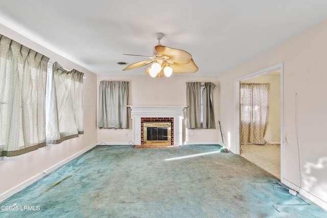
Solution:
{"label": "white fireplace mantel with shelf and side legs, without the brick", "polygon": [[135,145],[141,145],[141,118],[170,117],[174,118],[174,145],[182,144],[182,120],[186,106],[133,106],[131,108],[132,133]]}

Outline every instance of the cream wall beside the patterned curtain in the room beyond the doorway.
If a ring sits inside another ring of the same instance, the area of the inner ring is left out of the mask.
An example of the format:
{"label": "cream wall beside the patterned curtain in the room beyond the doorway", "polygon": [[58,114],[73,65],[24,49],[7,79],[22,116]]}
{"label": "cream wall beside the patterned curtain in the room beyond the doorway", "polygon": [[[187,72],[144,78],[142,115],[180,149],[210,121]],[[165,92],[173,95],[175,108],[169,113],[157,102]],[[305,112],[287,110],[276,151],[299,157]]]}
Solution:
{"label": "cream wall beside the patterned curtain in the room beyond the doorway", "polygon": [[256,76],[243,80],[241,83],[270,84],[269,117],[264,139],[271,144],[281,143],[281,79],[279,75]]}

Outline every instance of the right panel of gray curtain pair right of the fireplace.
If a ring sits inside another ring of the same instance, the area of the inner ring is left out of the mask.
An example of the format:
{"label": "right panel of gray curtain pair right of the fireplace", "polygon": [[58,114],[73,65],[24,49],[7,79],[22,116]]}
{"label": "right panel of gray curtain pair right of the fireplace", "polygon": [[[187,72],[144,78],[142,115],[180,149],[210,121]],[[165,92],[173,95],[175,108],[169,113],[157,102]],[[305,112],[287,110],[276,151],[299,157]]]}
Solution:
{"label": "right panel of gray curtain pair right of the fireplace", "polygon": [[202,90],[203,102],[203,128],[215,128],[215,115],[212,103],[213,90],[216,85],[212,82],[205,82]]}

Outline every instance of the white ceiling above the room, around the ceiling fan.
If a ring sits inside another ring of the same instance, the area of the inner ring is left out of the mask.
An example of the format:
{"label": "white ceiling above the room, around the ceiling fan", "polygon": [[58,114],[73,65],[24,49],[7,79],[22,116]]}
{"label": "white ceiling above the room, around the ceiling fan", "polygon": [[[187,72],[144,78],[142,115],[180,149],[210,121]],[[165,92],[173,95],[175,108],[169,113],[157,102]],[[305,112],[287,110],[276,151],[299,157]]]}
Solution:
{"label": "white ceiling above the room, around the ceiling fan", "polygon": [[190,75],[219,75],[324,19],[325,0],[0,1],[1,24],[104,75],[144,75],[116,62],[152,55],[156,32],[192,54]]}

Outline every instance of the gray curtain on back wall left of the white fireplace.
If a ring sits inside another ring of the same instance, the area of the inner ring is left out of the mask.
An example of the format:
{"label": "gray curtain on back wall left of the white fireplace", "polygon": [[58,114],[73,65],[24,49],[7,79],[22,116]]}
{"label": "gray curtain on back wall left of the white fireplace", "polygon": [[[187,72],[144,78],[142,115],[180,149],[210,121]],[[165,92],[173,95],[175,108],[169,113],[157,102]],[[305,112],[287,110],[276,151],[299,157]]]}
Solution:
{"label": "gray curtain on back wall left of the white fireplace", "polygon": [[99,128],[128,128],[127,104],[127,81],[101,81],[99,86]]}

